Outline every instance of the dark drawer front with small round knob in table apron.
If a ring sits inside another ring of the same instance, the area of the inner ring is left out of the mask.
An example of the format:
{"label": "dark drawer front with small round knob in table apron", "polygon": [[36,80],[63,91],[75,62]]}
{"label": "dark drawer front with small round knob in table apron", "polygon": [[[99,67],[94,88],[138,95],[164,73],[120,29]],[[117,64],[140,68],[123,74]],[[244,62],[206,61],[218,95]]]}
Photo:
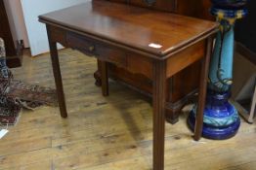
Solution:
{"label": "dark drawer front with small round knob in table apron", "polygon": [[67,47],[81,51],[89,56],[95,56],[103,61],[126,67],[126,52],[120,49],[103,45],[96,40],[86,38],[83,35],[67,32]]}

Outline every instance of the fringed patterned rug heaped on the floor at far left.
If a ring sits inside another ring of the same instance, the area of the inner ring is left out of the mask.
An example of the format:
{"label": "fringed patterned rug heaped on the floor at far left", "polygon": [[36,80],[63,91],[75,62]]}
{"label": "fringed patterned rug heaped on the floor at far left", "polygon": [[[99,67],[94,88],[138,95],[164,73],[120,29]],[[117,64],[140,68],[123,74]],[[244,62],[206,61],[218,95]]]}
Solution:
{"label": "fringed patterned rug heaped on the floor at far left", "polygon": [[0,38],[0,125],[14,125],[22,108],[33,110],[41,105],[57,106],[57,103],[55,89],[14,80],[6,65],[4,42]]}

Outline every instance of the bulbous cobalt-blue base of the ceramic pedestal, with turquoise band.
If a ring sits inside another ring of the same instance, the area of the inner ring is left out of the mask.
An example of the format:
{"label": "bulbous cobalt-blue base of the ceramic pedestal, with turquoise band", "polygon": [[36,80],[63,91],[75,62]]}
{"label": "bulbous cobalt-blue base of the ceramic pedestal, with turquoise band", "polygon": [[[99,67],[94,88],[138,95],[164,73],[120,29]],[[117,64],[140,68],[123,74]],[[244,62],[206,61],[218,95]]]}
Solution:
{"label": "bulbous cobalt-blue base of the ceramic pedestal, with turquoise band", "polygon": [[[218,93],[208,90],[203,116],[202,136],[209,139],[228,139],[235,136],[240,119],[235,107],[228,101],[230,92]],[[188,119],[189,127],[194,129],[196,106]]]}

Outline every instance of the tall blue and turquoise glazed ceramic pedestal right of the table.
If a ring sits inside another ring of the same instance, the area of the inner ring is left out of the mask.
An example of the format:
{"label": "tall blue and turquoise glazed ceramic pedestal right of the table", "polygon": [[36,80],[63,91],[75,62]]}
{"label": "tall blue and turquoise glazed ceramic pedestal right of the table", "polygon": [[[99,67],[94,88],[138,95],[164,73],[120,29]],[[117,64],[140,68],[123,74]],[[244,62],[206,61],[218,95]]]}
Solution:
{"label": "tall blue and turquoise glazed ceramic pedestal right of the table", "polygon": [[[212,0],[211,14],[220,22],[210,62],[209,83],[203,116],[202,136],[209,139],[228,139],[238,131],[240,119],[229,103],[233,84],[234,25],[237,18],[245,17],[246,0]],[[194,129],[196,105],[188,123]]]}

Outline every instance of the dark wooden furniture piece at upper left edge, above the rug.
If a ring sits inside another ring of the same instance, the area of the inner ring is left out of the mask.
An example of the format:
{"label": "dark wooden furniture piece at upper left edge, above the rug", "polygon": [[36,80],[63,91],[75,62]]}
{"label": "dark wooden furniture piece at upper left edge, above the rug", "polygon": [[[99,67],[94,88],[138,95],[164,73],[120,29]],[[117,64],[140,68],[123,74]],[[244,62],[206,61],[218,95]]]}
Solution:
{"label": "dark wooden furniture piece at upper left edge, above the rug", "polygon": [[15,46],[3,0],[0,0],[0,37],[5,42],[7,65],[11,68],[21,66],[23,47],[19,43],[17,48]]}

